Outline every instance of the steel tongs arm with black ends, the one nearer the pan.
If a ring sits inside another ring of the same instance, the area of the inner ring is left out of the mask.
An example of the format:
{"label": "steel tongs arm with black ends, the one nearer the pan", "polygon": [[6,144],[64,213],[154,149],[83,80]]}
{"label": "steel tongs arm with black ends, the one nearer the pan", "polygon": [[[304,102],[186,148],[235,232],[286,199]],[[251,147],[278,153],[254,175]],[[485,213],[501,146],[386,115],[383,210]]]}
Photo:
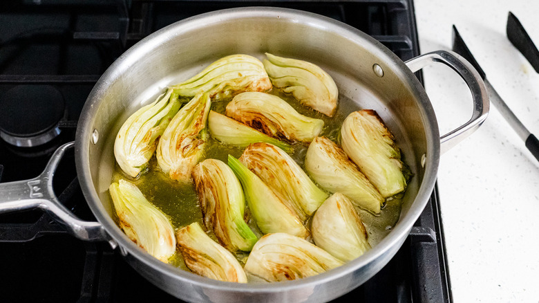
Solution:
{"label": "steel tongs arm with black ends, the one nearer the pan", "polygon": [[507,104],[504,102],[502,97],[498,95],[498,92],[494,89],[494,87],[490,84],[489,80],[486,80],[486,74],[482,70],[481,66],[477,64],[477,61],[475,61],[475,58],[473,57],[472,53],[470,52],[468,46],[464,43],[464,40],[460,36],[457,28],[453,25],[453,51],[455,53],[461,55],[464,57],[464,59],[468,60],[475,69],[477,69],[477,72],[481,75],[483,78],[484,84],[486,86],[486,91],[489,92],[489,98],[491,102],[494,104],[494,107],[500,111],[502,116],[507,120],[509,125],[516,131],[518,136],[524,140],[524,143],[526,144],[527,149],[533,154],[533,156],[536,157],[537,160],[539,160],[539,140],[537,140],[536,136],[533,136],[529,132],[529,130],[522,125],[522,122],[518,120],[518,118],[515,116],[513,111],[509,109]]}

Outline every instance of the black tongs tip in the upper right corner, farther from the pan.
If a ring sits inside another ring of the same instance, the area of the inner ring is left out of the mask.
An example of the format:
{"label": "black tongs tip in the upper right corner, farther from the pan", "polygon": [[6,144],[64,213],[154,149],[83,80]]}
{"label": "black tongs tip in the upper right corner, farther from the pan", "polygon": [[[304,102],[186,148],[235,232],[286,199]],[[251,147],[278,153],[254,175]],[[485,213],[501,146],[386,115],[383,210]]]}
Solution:
{"label": "black tongs tip in the upper right corner, farther from the pan", "polygon": [[507,16],[506,33],[509,41],[524,55],[531,66],[533,66],[533,69],[539,73],[539,50],[537,50],[536,45],[531,41],[524,26],[522,26],[512,12],[509,12]]}

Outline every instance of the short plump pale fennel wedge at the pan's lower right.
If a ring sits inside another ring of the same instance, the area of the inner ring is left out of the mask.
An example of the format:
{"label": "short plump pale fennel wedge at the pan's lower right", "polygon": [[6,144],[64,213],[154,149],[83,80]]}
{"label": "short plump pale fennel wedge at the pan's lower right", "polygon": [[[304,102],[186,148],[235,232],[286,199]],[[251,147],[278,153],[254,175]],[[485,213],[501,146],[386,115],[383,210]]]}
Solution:
{"label": "short plump pale fennel wedge at the pan's lower right", "polygon": [[312,217],[312,239],[341,261],[351,261],[370,249],[367,230],[350,199],[337,192]]}

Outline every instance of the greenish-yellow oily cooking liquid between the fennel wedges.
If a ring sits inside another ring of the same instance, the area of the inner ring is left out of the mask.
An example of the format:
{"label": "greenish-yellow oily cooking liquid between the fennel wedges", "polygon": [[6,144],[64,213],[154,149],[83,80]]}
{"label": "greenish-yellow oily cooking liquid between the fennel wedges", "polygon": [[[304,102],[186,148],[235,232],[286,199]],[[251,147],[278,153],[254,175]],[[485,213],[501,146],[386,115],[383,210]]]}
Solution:
{"label": "greenish-yellow oily cooking liquid between the fennel wedges", "polygon": [[[337,111],[333,117],[328,117],[305,107],[299,103],[296,99],[290,95],[285,95],[278,91],[277,89],[272,89],[269,93],[278,95],[283,100],[286,100],[289,104],[296,109],[302,115],[318,118],[324,121],[323,131],[320,136],[326,136],[333,140],[336,143],[339,143],[340,146],[340,131],[341,125],[343,124],[344,119],[352,111],[357,111],[361,108],[358,107],[357,103],[350,100],[349,98],[339,95],[339,103],[337,105]],[[228,101],[212,102],[211,109],[225,114],[225,109],[228,104]],[[391,129],[390,129],[391,130]],[[395,134],[395,133],[393,133]],[[292,158],[296,160],[299,165],[304,168],[303,162],[305,159],[305,153],[307,152],[308,145],[305,143],[294,143]],[[205,148],[204,158],[216,158],[227,163],[227,156],[231,154],[232,156],[239,158],[243,153],[243,148],[232,147],[230,145],[224,145],[218,140],[209,136]],[[405,161],[403,155],[403,161]],[[149,163],[149,169],[141,174],[138,178],[131,178],[122,172],[117,163],[115,163],[113,177],[111,183],[117,182],[118,179],[124,178],[131,181],[138,186],[142,194],[146,196],[146,199],[162,212],[167,214],[171,219],[172,225],[175,230],[178,230],[184,226],[187,226],[195,221],[198,221],[201,226],[204,226],[202,221],[202,211],[200,210],[200,205],[198,203],[198,196],[194,185],[191,184],[182,184],[178,181],[174,181],[167,174],[164,174],[160,167],[158,166],[155,155],[151,158]],[[401,199],[392,199],[386,201],[386,205],[381,210],[381,214],[375,216],[367,212],[366,210],[361,210],[356,208],[361,217],[361,221],[366,227],[368,232],[368,241],[370,246],[376,246],[381,239],[384,239],[386,235],[390,232],[391,228],[395,226],[399,219],[401,212]],[[249,213],[249,208],[246,206],[246,214]],[[117,223],[117,217],[114,218]],[[256,227],[254,220],[249,219],[247,221],[249,227],[254,231],[254,233],[261,237],[263,234]],[[309,224],[308,224],[309,225]],[[217,241],[214,232],[209,231],[210,237]],[[236,252],[236,258],[242,264],[245,264],[248,256],[247,252]],[[169,263],[182,268],[184,270],[189,270],[183,261],[182,255],[178,250],[176,254],[169,259]]]}

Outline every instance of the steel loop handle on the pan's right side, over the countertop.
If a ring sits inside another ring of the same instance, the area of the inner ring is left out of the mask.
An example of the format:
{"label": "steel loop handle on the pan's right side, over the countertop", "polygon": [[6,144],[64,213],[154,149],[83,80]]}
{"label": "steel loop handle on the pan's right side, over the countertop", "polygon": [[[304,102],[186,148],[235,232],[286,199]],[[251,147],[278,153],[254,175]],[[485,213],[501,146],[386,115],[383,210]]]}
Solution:
{"label": "steel loop handle on the pan's right side, over the countertop", "polygon": [[470,120],[440,137],[440,152],[443,154],[480,127],[489,113],[490,102],[489,95],[486,93],[486,87],[479,73],[477,73],[475,68],[466,59],[452,51],[437,50],[432,53],[426,53],[425,55],[408,60],[406,65],[415,73],[419,69],[433,64],[433,62],[446,64],[453,71],[456,71],[464,82],[468,84],[473,100],[473,113]]}

